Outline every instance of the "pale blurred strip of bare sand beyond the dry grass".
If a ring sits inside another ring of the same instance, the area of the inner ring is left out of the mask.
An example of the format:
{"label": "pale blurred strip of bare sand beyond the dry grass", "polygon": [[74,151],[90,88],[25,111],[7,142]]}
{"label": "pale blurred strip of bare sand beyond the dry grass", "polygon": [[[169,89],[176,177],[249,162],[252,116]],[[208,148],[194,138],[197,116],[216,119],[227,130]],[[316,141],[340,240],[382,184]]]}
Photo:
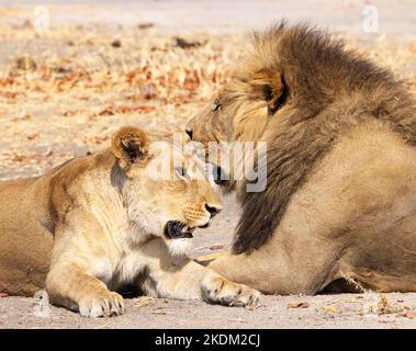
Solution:
{"label": "pale blurred strip of bare sand beyond the dry grass", "polygon": [[9,23],[24,19],[24,10],[46,5],[53,11],[50,25],[151,22],[169,33],[246,32],[282,18],[360,33],[364,18],[374,7],[379,11],[380,33],[412,36],[416,11],[412,0],[10,0],[0,3],[22,10]]}

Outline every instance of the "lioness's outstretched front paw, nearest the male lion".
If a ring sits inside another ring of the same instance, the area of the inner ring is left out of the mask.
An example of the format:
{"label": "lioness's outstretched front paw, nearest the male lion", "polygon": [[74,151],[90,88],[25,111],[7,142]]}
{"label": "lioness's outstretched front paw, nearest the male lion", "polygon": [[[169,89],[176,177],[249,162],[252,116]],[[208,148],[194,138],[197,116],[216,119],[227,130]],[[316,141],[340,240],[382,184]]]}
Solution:
{"label": "lioness's outstretched front paw, nearest the male lion", "polygon": [[220,276],[203,282],[202,297],[209,304],[241,307],[257,305],[260,293],[247,285],[233,283]]}

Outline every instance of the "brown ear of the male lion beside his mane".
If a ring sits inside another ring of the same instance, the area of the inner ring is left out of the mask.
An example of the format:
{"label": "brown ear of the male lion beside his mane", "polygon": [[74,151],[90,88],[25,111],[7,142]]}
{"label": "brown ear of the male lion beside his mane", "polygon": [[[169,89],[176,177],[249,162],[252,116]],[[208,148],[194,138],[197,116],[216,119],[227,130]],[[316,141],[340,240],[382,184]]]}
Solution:
{"label": "brown ear of the male lion beside his mane", "polygon": [[251,80],[254,91],[259,99],[267,102],[268,110],[273,113],[283,103],[284,83],[282,76],[270,69],[257,71]]}

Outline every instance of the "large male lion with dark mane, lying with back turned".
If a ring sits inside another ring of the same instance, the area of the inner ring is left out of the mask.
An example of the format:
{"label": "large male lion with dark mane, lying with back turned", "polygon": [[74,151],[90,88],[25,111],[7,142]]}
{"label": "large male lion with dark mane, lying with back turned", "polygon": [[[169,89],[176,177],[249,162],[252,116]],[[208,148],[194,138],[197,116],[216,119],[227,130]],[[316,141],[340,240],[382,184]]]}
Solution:
{"label": "large male lion with dark mane, lying with back turned", "polygon": [[[267,188],[210,267],[265,293],[355,281],[416,291],[416,105],[391,72],[305,25],[254,35],[193,140],[267,141]],[[346,281],[344,281],[346,282]]]}

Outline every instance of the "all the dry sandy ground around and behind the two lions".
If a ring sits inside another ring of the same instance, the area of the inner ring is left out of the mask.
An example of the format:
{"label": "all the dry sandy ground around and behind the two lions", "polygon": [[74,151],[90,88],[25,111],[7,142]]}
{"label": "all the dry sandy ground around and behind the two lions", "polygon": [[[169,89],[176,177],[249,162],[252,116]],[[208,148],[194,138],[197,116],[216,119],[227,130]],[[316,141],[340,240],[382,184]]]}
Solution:
{"label": "all the dry sandy ground around and behind the two lions", "polygon": [[[314,0],[308,9],[243,1],[231,16],[221,1],[201,8],[185,0],[61,2],[42,3],[50,11],[44,30],[34,4],[0,1],[0,180],[41,174],[106,147],[121,125],[182,128],[229,78],[245,32],[282,16],[328,26],[416,92],[412,1],[373,1],[378,33],[362,32],[364,1]],[[194,257],[229,244],[239,207],[232,196],[225,203],[212,227],[195,233]],[[36,298],[0,297],[0,328],[415,327],[416,294],[263,296],[251,310],[139,297],[126,301],[125,315],[108,319],[81,318]]]}

